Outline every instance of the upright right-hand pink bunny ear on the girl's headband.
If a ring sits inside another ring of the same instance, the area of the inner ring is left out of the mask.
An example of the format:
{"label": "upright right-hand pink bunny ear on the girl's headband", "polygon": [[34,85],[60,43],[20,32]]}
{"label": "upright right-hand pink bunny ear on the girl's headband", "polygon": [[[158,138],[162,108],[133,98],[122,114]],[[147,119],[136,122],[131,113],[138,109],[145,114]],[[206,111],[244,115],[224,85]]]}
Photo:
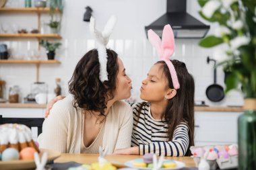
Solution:
{"label": "upright right-hand pink bunny ear on the girl's headband", "polygon": [[174,52],[174,34],[170,25],[164,26],[162,32],[162,52],[164,59],[168,59]]}

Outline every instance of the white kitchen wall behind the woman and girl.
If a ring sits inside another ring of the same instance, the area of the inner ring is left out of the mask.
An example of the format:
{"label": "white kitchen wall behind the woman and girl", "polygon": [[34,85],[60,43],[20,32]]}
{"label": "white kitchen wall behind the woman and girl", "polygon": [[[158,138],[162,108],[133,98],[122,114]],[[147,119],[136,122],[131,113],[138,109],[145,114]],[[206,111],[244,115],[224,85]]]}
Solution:
{"label": "white kitchen wall behind the woman and girl", "polygon": [[[94,47],[94,42],[88,30],[88,23],[83,22],[84,7],[89,5],[94,10],[96,27],[100,30],[110,15],[117,15],[118,22],[111,36],[108,46],[116,50],[123,59],[127,73],[133,80],[133,95],[139,98],[141,80],[146,77],[150,66],[156,62],[156,51],[146,39],[144,26],[148,26],[166,11],[166,1],[159,0],[65,0],[65,9],[61,28],[61,42],[63,46],[57,51],[57,59],[61,65],[41,65],[40,81],[49,85],[49,91],[53,92],[55,78],[60,77],[65,94],[67,94],[67,82],[71,78],[73,69],[79,58],[88,49]],[[199,18],[197,1],[187,3],[187,11]],[[42,20],[49,21],[47,14],[42,15]],[[204,21],[203,21],[204,22]],[[0,13],[0,23],[8,23],[10,26],[22,28],[36,28],[36,15],[32,13]],[[205,22],[206,23],[206,22]],[[211,25],[210,33],[214,25]],[[189,72],[195,79],[195,99],[205,100],[209,105],[243,105],[243,97],[239,92],[229,93],[226,98],[218,103],[207,100],[205,89],[213,83],[213,65],[207,65],[206,57],[212,56],[213,49],[199,47],[199,40],[176,40],[176,52],[173,58],[182,60],[187,64]],[[28,56],[31,50],[36,49],[36,40],[1,39],[15,52],[14,58]],[[44,50],[40,52],[40,58],[46,58]],[[224,73],[218,69],[217,82],[224,86]],[[7,81],[7,89],[10,85],[20,85],[23,97],[30,93],[31,83],[36,81],[35,65],[0,65],[0,79]],[[7,95],[7,90],[6,94]]]}

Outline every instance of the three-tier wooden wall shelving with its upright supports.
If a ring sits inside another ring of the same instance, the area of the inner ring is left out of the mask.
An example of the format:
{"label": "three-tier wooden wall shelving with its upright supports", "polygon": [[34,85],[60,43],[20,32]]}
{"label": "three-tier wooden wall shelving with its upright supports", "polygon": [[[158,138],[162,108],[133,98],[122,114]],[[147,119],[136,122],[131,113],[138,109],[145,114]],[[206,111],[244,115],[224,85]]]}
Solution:
{"label": "three-tier wooden wall shelving with its upright supports", "polygon": [[[24,8],[0,8],[0,13],[36,13],[38,15],[38,31],[40,31],[40,15],[41,13],[47,13],[50,8],[47,7],[24,7]],[[59,12],[55,9],[55,12]],[[59,34],[0,34],[0,38],[37,38],[38,40],[38,50],[40,50],[39,42],[40,40],[46,39],[60,39]],[[36,82],[39,82],[39,66],[41,64],[60,64],[61,62],[57,60],[0,60],[0,64],[35,64],[36,65]]]}

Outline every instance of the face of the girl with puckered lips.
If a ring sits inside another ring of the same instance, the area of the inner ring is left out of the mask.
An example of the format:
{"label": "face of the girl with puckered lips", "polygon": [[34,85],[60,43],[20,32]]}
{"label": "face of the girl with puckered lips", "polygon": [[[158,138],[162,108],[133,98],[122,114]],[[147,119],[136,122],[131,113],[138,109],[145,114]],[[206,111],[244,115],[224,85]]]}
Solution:
{"label": "face of the girl with puckered lips", "polygon": [[164,101],[168,93],[167,79],[160,67],[160,64],[153,65],[148,77],[142,81],[140,98],[149,102]]}

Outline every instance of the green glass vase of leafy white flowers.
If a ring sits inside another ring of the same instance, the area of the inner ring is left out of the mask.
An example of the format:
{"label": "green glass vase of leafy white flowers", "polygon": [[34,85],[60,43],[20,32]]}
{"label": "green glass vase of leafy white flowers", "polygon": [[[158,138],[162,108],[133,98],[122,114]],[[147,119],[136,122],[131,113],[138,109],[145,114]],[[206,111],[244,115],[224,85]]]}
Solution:
{"label": "green glass vase of leafy white flowers", "polygon": [[226,93],[243,91],[244,114],[238,118],[238,167],[256,169],[256,1],[198,0],[199,14],[216,22],[214,35],[199,42],[212,48],[223,44],[218,52],[219,65],[228,68]]}

